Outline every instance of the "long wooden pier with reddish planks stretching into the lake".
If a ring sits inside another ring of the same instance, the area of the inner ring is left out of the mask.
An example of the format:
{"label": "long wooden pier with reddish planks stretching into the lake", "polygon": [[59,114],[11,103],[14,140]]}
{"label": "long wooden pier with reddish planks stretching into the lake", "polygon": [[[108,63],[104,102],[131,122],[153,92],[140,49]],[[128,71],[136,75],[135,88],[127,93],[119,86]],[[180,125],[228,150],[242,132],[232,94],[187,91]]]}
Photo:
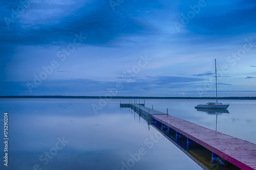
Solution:
{"label": "long wooden pier with reddish planks stretching into the lake", "polygon": [[[220,158],[241,169],[256,169],[256,144],[232,137],[186,120],[170,116],[166,113],[150,109],[139,104],[129,105],[136,112],[143,112],[151,117],[154,126],[161,127],[167,134],[173,134],[176,140],[186,140],[187,149],[195,143],[211,152],[212,163]],[[223,163],[223,162],[221,162]]]}

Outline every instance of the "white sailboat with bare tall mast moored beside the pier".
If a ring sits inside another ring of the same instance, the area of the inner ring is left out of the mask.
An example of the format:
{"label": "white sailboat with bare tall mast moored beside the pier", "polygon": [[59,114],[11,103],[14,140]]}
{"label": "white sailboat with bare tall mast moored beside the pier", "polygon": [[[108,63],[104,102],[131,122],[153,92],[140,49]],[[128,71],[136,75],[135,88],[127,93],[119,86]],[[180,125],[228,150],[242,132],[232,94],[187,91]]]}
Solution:
{"label": "white sailboat with bare tall mast moored beside the pier", "polygon": [[216,59],[215,59],[215,82],[216,82],[216,102],[208,102],[206,104],[199,104],[195,108],[203,108],[203,109],[227,109],[229,104],[222,104],[218,102],[217,95],[217,68],[216,68]]}

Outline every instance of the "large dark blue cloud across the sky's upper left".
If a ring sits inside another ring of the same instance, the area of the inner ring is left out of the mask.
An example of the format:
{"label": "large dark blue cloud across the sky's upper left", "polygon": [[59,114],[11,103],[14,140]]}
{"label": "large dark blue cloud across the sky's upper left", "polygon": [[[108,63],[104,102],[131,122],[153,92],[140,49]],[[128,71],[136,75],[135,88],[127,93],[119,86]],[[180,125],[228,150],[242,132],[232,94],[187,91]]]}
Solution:
{"label": "large dark blue cloud across the sky's upper left", "polygon": [[[10,27],[7,27],[5,22],[1,22],[0,33],[5,35],[1,41],[33,45],[71,42],[74,39],[74,34],[82,33],[83,36],[88,37],[85,43],[99,45],[116,39],[120,40],[120,38],[123,41],[126,36],[154,34],[154,27],[150,22],[143,19],[143,15],[146,15],[143,11],[154,9],[157,4],[154,6],[153,3],[146,2],[138,3],[140,5],[136,6],[132,6],[132,4],[133,2],[125,2],[116,7],[117,10],[115,11],[112,10],[109,1],[80,4],[79,9],[68,8],[68,5],[36,4],[31,6],[31,9],[46,10],[47,13],[47,10],[54,7],[56,9],[63,8],[70,15],[61,17],[62,13],[60,13],[59,16],[40,21],[35,20],[35,23],[23,23],[22,19],[17,19],[14,23],[10,23]],[[18,5],[20,4],[17,3],[13,6]],[[125,9],[126,7],[127,9]],[[11,8],[12,6],[4,8],[7,16],[10,15]]]}

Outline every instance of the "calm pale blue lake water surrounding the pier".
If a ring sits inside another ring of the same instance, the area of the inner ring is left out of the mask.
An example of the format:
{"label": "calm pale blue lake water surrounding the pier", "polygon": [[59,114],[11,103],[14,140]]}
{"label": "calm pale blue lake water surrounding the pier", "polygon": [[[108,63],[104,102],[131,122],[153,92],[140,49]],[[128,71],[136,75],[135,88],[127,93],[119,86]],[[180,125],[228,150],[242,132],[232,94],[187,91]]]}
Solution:
{"label": "calm pale blue lake water surrounding the pier", "polygon": [[[98,100],[0,101],[1,169],[202,169],[137,113],[120,110],[120,100],[109,101],[97,114],[92,105],[99,106]],[[229,113],[218,117],[194,109],[205,102],[146,100],[145,106],[154,105],[162,112],[168,108],[170,115],[212,130],[217,120],[217,131],[256,143],[256,101],[220,101],[230,106]],[[4,112],[8,112],[8,167],[3,161]]]}

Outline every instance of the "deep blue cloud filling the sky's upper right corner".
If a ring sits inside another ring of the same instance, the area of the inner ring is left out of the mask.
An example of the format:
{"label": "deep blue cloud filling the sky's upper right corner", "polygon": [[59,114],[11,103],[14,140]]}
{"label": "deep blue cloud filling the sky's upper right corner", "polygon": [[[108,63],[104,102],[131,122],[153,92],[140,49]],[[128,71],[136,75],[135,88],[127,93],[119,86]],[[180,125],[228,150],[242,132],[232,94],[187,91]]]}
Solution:
{"label": "deep blue cloud filling the sky's upper right corner", "polygon": [[211,36],[238,35],[251,33],[256,27],[255,1],[236,3],[206,1],[206,3],[206,7],[201,9],[187,25],[193,33]]}

